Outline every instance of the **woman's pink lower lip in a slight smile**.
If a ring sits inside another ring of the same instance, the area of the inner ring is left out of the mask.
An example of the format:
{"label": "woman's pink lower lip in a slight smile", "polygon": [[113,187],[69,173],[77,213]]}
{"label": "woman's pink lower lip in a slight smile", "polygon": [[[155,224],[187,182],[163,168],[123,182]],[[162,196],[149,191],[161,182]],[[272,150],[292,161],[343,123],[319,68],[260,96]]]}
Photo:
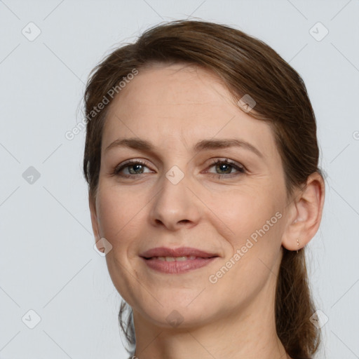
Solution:
{"label": "woman's pink lower lip in a slight smile", "polygon": [[197,259],[187,259],[186,261],[161,261],[160,259],[142,259],[149,266],[149,268],[159,271],[161,273],[168,274],[177,274],[185,273],[188,271],[193,271],[194,269],[202,268],[207,264],[210,264],[214,259],[212,258],[197,258]]}

